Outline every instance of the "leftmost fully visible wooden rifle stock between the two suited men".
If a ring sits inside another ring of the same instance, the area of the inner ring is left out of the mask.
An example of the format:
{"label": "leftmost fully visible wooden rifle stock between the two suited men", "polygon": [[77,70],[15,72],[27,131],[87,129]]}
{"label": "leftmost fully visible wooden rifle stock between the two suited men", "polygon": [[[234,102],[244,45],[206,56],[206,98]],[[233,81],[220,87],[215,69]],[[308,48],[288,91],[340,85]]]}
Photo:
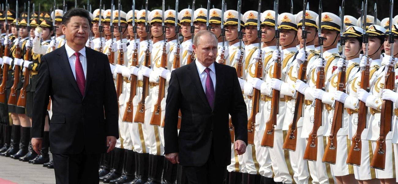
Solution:
{"label": "leftmost fully visible wooden rifle stock between the two suited men", "polygon": [[[133,43],[135,44],[135,43]],[[131,59],[131,65],[137,66],[137,55],[138,49],[136,48],[133,53],[133,58]],[[137,76],[131,74],[130,76],[130,97],[129,101],[126,103],[126,110],[123,115],[123,122],[133,123],[133,99],[137,94]]]}

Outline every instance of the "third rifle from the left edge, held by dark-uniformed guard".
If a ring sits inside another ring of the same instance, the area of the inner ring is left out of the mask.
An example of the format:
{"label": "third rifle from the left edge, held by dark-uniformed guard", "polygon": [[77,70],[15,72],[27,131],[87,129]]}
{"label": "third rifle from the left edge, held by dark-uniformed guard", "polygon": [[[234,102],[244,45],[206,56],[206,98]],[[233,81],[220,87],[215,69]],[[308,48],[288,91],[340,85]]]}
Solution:
{"label": "third rifle from the left edge, held by dark-uniformed guard", "polygon": [[[27,7],[27,30],[30,31],[30,1],[27,2],[28,7]],[[34,12],[33,12],[34,13]],[[28,39],[30,41],[30,34],[28,34]],[[25,60],[30,61],[32,56],[32,48],[29,46],[27,47],[26,53],[25,53]],[[20,96],[18,98],[17,102],[17,107],[23,107],[25,108],[26,106],[26,87],[29,84],[30,80],[30,70],[25,68],[23,72],[23,86],[21,88]]]}

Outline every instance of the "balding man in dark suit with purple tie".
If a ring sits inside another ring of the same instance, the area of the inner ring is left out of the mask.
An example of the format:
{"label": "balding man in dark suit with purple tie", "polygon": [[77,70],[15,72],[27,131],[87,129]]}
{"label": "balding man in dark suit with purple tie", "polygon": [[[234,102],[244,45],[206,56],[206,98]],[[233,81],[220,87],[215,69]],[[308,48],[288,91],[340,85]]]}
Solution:
{"label": "balding man in dark suit with purple tie", "polygon": [[211,31],[195,34],[193,51],[195,62],[174,70],[169,82],[165,156],[183,166],[190,184],[219,184],[230,164],[228,114],[235,127],[235,151],[246,151],[246,104],[235,69],[215,62],[217,38]]}

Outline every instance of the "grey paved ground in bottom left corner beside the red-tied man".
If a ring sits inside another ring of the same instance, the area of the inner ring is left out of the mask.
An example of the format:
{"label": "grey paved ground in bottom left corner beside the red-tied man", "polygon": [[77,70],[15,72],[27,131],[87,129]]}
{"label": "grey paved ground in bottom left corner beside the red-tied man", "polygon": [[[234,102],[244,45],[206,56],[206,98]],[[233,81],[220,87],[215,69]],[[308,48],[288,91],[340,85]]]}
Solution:
{"label": "grey paved ground in bottom left corner beside the red-tied man", "polygon": [[0,184],[55,184],[54,169],[0,157]]}

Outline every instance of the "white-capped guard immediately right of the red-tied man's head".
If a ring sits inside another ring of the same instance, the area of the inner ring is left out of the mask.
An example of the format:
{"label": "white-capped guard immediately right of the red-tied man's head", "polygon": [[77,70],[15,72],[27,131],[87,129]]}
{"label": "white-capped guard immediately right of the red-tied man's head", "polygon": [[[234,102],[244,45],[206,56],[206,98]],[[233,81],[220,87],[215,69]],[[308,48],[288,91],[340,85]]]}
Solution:
{"label": "white-capped guard immediately right of the red-tied man's head", "polygon": [[[102,27],[104,26],[105,19],[103,17],[105,10],[101,10],[101,15],[100,15],[100,9],[96,9],[93,12],[94,18],[92,20],[92,31],[94,34],[94,38],[92,41],[94,42],[94,50],[100,51],[102,49],[101,47],[105,47],[105,38],[103,37],[105,34],[100,32],[100,19],[101,19],[101,25]],[[101,51],[100,51],[101,52]]]}

